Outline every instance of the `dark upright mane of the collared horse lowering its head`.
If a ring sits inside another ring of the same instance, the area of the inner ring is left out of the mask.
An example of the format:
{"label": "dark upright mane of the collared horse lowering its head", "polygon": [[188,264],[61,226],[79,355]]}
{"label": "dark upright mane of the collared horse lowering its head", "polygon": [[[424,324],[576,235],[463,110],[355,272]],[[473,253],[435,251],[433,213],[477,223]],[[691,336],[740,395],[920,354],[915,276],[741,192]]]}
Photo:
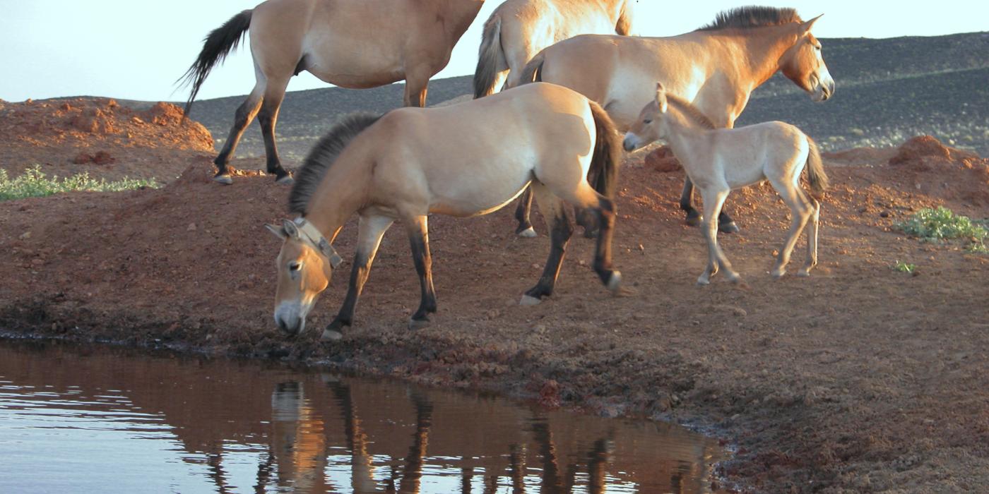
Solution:
{"label": "dark upright mane of the collared horse lowering its head", "polygon": [[292,192],[289,193],[289,212],[306,214],[315,190],[326,175],[326,170],[333,165],[347,144],[365,128],[378,122],[381,115],[370,113],[353,113],[340,119],[330,127],[325,135],[310,150],[303,167],[295,177]]}

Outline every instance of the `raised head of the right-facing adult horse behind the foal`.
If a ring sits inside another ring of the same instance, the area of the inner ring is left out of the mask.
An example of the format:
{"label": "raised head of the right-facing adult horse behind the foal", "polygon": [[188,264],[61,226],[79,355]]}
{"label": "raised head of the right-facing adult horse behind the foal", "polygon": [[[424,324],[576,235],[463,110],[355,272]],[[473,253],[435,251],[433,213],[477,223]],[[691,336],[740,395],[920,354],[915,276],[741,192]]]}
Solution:
{"label": "raised head of the right-facing adult horse behind the foal", "polygon": [[835,94],[835,80],[821,55],[821,41],[810,33],[818,19],[821,16],[800,23],[797,40],[779,58],[779,68],[783,75],[810,93],[814,101],[821,102]]}

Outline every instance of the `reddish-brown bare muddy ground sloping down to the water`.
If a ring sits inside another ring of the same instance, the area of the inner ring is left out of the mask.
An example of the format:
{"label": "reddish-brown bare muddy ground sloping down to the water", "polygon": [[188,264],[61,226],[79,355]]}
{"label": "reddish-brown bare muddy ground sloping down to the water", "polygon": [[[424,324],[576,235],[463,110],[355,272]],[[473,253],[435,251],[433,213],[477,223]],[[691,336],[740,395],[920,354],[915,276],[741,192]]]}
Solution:
{"label": "reddish-brown bare muddy ground sloping down to the water", "polygon": [[[788,211],[761,186],[729,198],[743,231],[721,237],[748,288],[723,278],[695,286],[706,251],[675,206],[682,172],[645,166],[640,153],[622,170],[615,236],[615,265],[634,295],[607,294],[589,269],[591,242],[575,236],[554,296],[519,306],[545,261],[545,228],[520,239],[508,210],[437,215],[433,324],[406,329],[418,286],[393,228],[356,325],[331,345],[318,328],[339,306],[344,275],[308,334],[288,338],[271,320],[279,243],[262,224],[284,217],[289,189],[256,173],[219,186],[208,151],[144,149],[153,161],[142,163],[185,172],[159,190],[0,204],[0,328],[310,362],[687,423],[737,448],[720,473],[746,491],[989,491],[989,255],[892,228],[925,206],[989,217],[989,165],[914,144],[895,165],[896,149],[828,157],[833,188],[809,279],[769,277]],[[351,222],[336,244],[344,257],[355,236]],[[896,261],[916,274],[894,271]]]}

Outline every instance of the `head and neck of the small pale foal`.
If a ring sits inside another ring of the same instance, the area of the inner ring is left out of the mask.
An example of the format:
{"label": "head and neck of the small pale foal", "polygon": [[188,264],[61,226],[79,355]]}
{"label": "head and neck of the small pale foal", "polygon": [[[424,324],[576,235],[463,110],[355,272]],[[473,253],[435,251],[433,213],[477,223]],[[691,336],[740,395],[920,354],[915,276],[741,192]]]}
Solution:
{"label": "head and neck of the small pale foal", "polygon": [[[670,111],[671,106],[676,110],[675,116]],[[703,129],[715,127],[710,119],[697,110],[697,107],[668,94],[663,83],[657,82],[656,99],[639,112],[639,119],[625,133],[623,147],[626,151],[634,151],[650,142],[669,138],[670,127],[674,120],[681,126]]]}

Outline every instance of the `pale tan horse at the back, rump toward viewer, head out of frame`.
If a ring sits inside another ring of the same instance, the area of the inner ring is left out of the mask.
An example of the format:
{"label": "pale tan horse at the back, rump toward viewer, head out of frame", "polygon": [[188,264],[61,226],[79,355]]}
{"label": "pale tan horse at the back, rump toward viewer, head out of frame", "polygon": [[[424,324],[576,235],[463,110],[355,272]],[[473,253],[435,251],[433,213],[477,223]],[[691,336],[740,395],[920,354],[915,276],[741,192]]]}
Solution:
{"label": "pale tan horse at the back, rump toward viewer, head out of frame", "polygon": [[474,97],[515,87],[522,68],[539,50],[578,35],[627,36],[633,0],[507,0],[485,23]]}

